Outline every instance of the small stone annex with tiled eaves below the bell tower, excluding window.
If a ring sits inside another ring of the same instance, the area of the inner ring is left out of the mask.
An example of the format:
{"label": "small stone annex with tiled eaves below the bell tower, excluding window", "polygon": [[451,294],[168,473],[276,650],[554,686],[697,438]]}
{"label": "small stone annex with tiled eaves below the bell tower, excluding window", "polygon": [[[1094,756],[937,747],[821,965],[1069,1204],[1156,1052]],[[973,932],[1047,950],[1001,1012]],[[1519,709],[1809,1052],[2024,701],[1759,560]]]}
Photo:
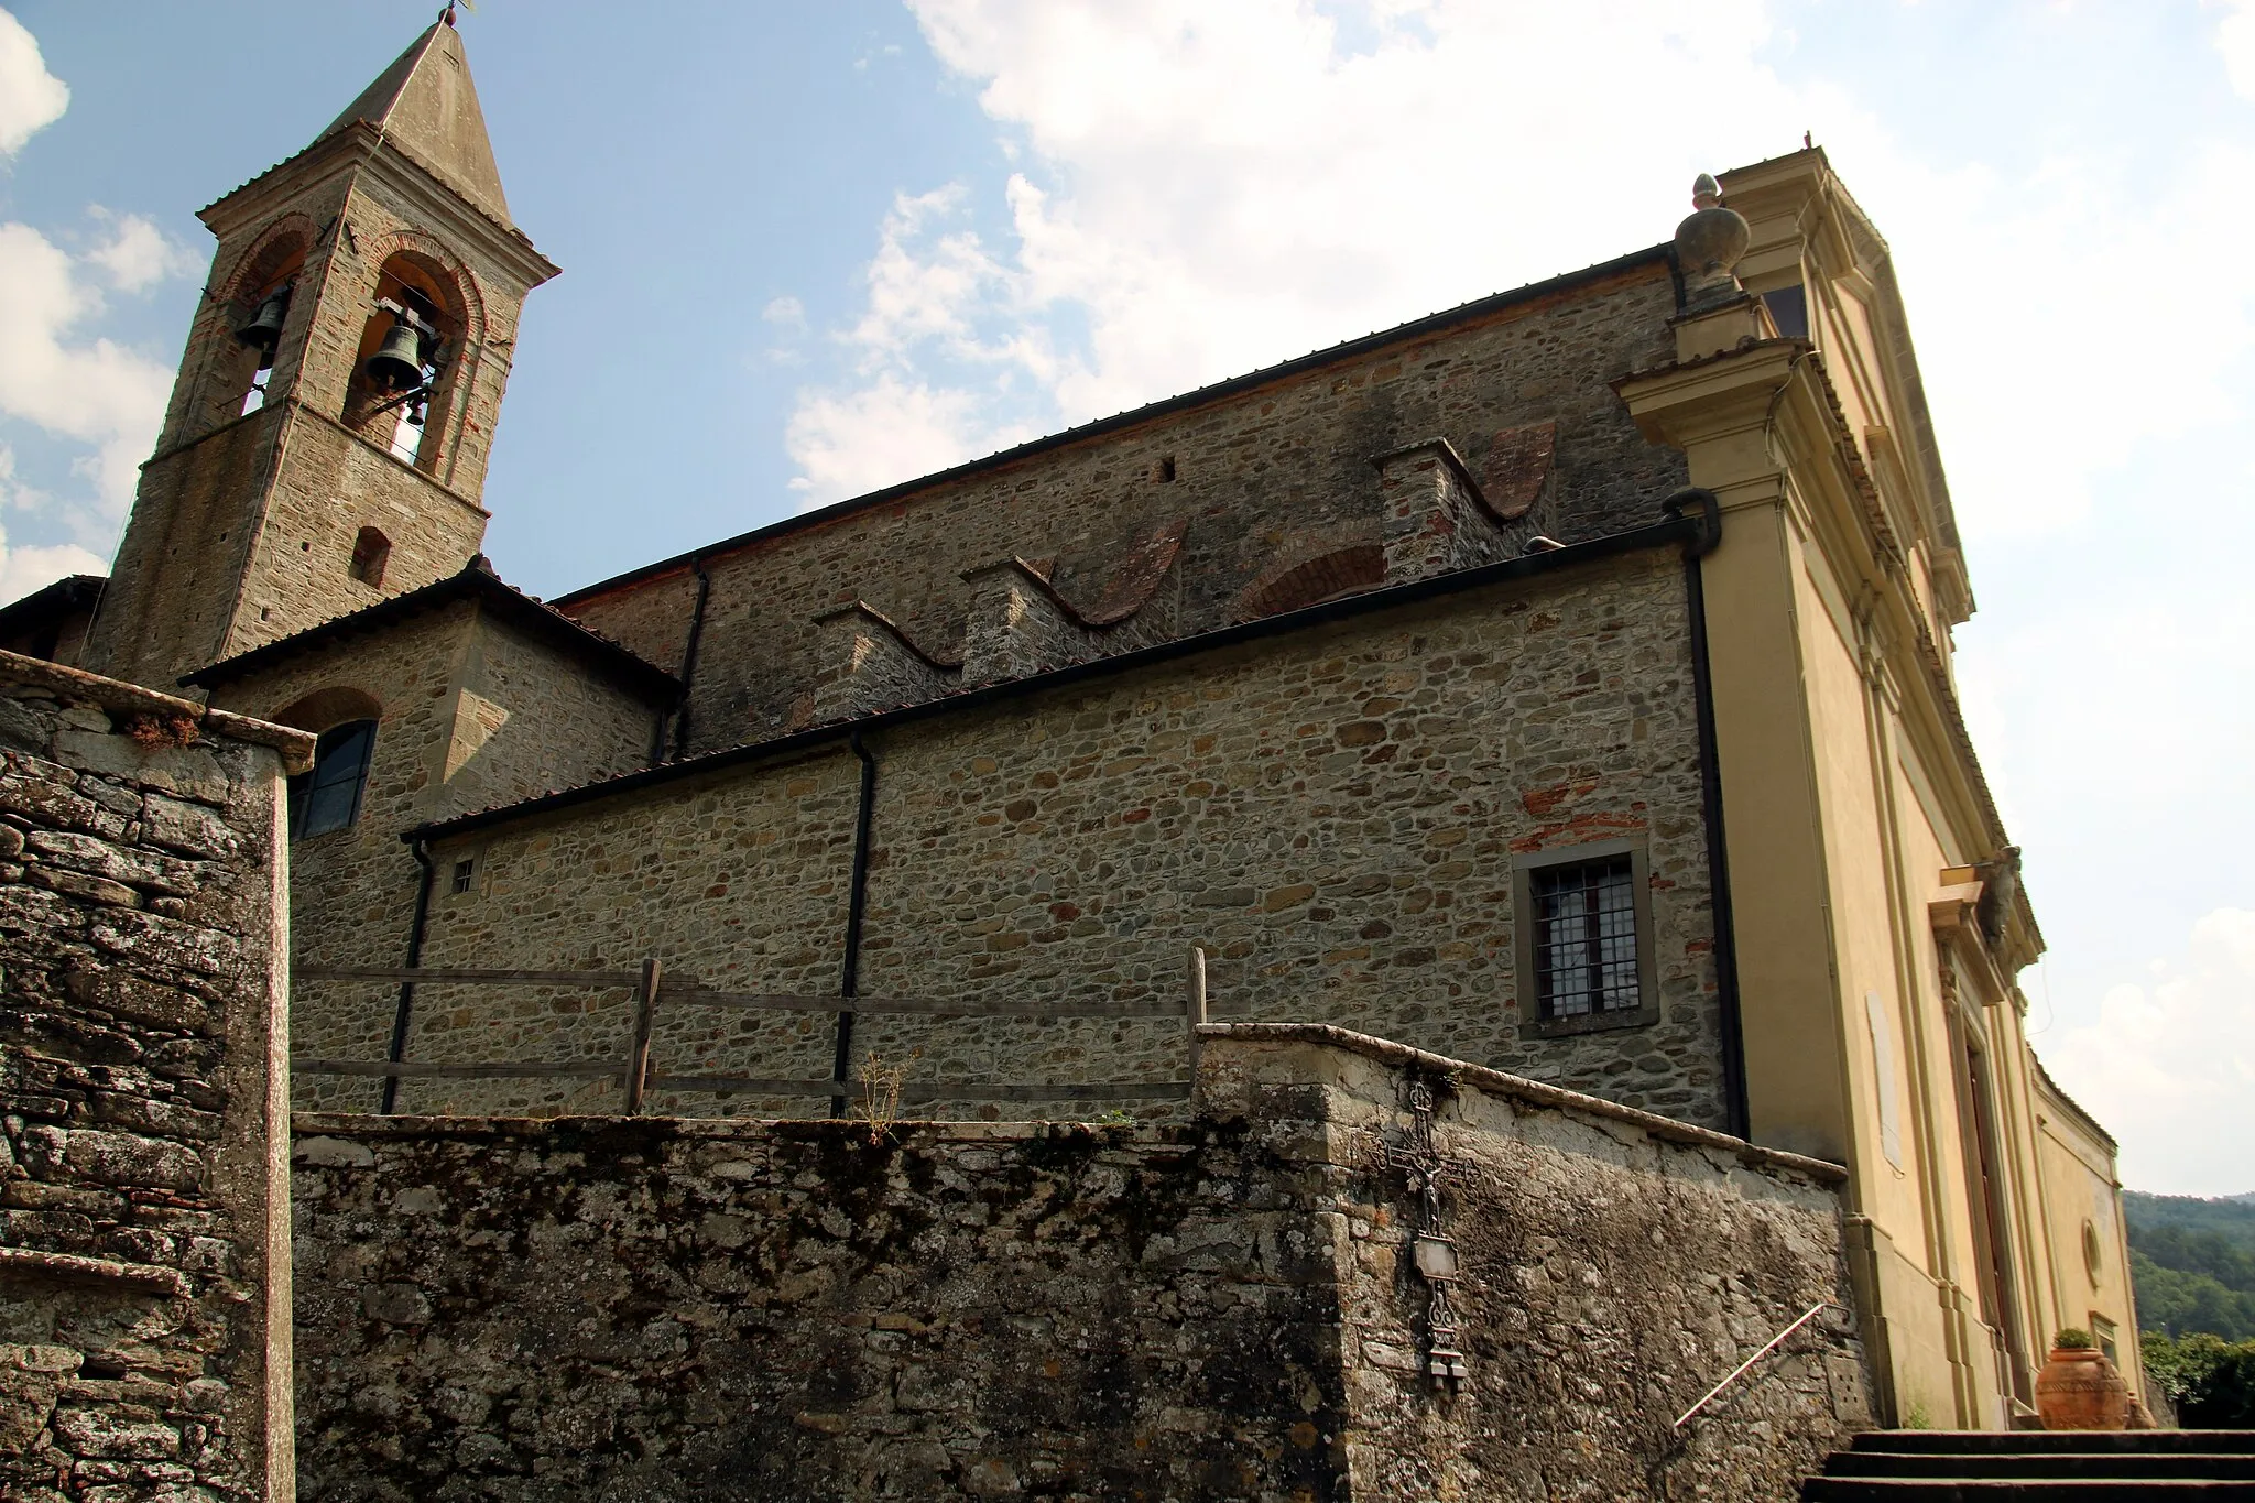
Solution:
{"label": "small stone annex with tiled eaves below the bell tower, excluding window", "polygon": [[[406,962],[419,868],[399,831],[631,771],[654,723],[634,694],[469,602],[309,649],[221,685],[212,703],[325,730],[365,712],[336,708],[347,703],[334,699],[341,690],[354,705],[374,701],[381,717],[361,818],[291,847],[295,946],[313,964]],[[451,888],[451,865],[446,879]],[[395,996],[295,982],[298,1055],[381,1059]],[[377,1100],[365,1079],[304,1075],[295,1091],[307,1106]]]}

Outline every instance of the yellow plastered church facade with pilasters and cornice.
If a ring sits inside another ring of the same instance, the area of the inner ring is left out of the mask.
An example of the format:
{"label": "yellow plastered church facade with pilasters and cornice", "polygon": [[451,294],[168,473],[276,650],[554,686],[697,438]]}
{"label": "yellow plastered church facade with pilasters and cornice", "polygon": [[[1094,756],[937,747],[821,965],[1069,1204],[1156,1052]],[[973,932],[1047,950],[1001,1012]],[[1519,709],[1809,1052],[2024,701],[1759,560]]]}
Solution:
{"label": "yellow plastered church facade with pilasters and cornice", "polygon": [[[1887,1415],[2000,1429],[2061,1327],[2111,1327],[2140,1384],[2115,1145],[2027,1048],[2014,973],[2041,935],[1953,703],[1971,593],[1885,241],[1820,151],[1723,189],[1750,295],[1680,318],[1678,361],[1619,390],[1723,507],[1750,1136],[1849,1167]],[[1759,297],[1788,286],[1806,338]]]}

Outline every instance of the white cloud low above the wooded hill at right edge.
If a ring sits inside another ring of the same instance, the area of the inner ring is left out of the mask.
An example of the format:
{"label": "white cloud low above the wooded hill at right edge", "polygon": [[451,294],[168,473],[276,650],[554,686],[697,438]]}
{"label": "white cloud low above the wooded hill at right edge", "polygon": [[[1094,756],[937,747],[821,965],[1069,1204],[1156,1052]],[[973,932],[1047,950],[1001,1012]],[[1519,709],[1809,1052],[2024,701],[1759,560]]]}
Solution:
{"label": "white cloud low above the wooded hill at right edge", "polygon": [[2151,978],[2043,1057],[2122,1140],[2122,1179],[2163,1194],[2255,1190],[2255,913],[2217,908]]}

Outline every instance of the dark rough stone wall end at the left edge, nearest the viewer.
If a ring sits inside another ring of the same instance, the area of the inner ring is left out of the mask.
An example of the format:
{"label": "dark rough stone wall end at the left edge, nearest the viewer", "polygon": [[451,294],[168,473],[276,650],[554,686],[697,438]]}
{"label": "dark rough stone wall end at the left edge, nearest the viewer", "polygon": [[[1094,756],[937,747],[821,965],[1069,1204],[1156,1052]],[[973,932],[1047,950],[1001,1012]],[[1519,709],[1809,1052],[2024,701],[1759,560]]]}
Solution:
{"label": "dark rough stone wall end at the left edge, nearest the viewer", "polygon": [[0,653],[0,1496],[289,1498],[284,771]]}

